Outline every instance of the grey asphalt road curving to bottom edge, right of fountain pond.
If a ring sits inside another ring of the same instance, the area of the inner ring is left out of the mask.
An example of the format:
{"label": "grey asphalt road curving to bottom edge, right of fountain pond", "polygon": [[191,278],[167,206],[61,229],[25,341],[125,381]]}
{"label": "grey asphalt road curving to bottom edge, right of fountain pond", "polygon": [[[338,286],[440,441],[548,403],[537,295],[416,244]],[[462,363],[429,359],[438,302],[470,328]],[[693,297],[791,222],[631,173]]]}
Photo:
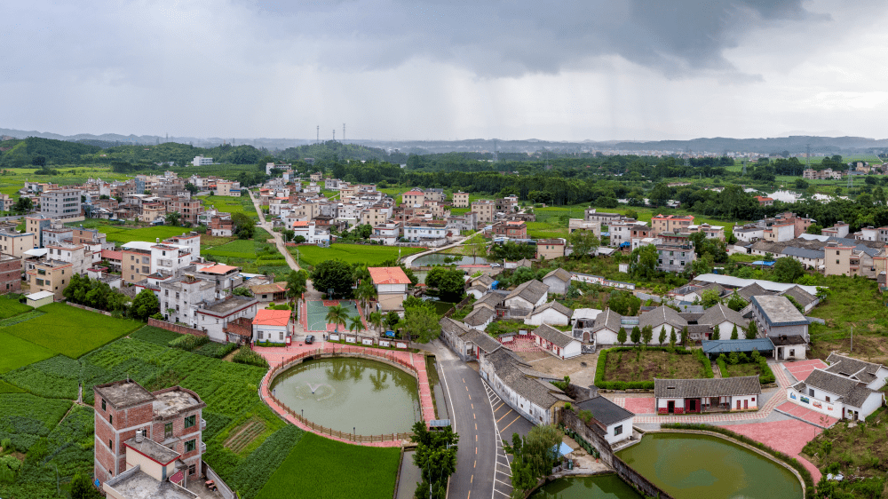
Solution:
{"label": "grey asphalt road curving to bottom edge, right of fountain pond", "polygon": [[459,434],[459,450],[447,496],[493,497],[499,441],[493,409],[478,373],[455,356],[449,357],[439,356],[438,366],[451,408],[451,424]]}

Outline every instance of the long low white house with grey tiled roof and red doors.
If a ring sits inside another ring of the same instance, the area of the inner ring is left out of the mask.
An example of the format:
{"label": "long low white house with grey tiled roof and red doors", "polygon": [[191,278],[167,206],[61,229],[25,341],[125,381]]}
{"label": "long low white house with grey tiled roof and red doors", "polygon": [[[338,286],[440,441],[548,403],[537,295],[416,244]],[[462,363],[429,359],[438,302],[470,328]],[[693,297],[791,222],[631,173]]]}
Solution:
{"label": "long low white house with grey tiled roof and red doors", "polygon": [[758,376],[710,379],[654,378],[657,414],[758,410]]}

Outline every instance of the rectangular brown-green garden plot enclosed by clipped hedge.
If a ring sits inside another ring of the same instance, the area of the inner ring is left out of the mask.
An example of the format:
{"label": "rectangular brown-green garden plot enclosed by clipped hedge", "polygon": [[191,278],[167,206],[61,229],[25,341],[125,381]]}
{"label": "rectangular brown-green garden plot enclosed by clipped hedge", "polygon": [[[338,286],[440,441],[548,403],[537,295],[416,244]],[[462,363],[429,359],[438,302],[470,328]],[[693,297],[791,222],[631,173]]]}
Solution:
{"label": "rectangular brown-green garden plot enclosed by clipped hedge", "polygon": [[656,350],[611,352],[607,355],[605,381],[654,381],[654,377],[694,379],[706,376],[694,355]]}

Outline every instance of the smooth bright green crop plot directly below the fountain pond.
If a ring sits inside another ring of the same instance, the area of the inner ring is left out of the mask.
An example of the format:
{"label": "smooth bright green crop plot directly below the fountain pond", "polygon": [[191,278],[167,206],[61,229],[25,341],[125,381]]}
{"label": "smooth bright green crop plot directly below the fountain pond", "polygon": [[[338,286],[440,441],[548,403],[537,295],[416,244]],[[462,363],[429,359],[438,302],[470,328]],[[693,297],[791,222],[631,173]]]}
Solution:
{"label": "smooth bright green crop plot directly below the fountain pond", "polygon": [[399,460],[399,448],[355,446],[305,433],[257,498],[389,499]]}

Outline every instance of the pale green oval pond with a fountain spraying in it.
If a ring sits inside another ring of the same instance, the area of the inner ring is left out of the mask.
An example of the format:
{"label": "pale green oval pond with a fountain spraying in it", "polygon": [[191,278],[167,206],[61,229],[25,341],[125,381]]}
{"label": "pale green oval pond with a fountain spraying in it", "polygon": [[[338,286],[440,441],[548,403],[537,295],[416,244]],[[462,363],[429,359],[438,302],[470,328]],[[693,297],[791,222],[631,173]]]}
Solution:
{"label": "pale green oval pond with a fountain spraying in it", "polygon": [[305,419],[340,432],[409,432],[422,419],[416,378],[376,360],[307,360],[275,377],[271,389]]}

